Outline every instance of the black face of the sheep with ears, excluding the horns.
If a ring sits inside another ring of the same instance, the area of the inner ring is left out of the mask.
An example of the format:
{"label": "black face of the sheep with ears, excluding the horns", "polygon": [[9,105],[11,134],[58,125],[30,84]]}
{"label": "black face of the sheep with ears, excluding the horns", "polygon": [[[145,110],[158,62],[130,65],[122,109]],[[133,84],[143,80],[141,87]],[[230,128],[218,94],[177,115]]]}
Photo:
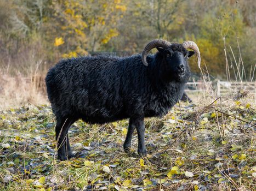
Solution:
{"label": "black face of the sheep with ears, excluding the horns", "polygon": [[[189,71],[187,59],[194,55],[194,51],[187,51],[179,45],[172,45],[167,49],[157,48],[163,57],[163,72],[169,73],[167,76],[175,79],[182,79],[186,72]],[[168,78],[169,78],[168,77]]]}

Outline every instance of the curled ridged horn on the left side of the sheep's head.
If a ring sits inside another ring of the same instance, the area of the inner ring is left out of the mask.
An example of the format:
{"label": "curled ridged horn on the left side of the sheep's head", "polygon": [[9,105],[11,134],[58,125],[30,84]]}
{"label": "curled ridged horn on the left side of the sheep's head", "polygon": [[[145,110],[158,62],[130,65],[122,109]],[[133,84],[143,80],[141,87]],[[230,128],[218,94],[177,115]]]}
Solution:
{"label": "curled ridged horn on the left side of the sheep's head", "polygon": [[170,46],[171,43],[169,43],[166,40],[162,40],[162,39],[155,39],[150,41],[144,48],[141,58],[142,58],[142,62],[144,65],[149,65],[147,63],[147,54],[149,53],[149,51],[155,47],[163,47],[164,49],[166,49],[168,46]]}

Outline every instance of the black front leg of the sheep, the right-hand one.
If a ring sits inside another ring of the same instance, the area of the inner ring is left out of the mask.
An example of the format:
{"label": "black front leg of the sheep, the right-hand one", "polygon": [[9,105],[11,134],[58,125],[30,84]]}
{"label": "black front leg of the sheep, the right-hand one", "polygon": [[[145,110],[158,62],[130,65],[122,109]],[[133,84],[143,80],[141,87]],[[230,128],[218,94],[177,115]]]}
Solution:
{"label": "black front leg of the sheep, the right-hand one", "polygon": [[145,124],[144,124],[144,117],[136,118],[135,120],[135,126],[138,133],[138,153],[144,154],[147,152],[145,147]]}

